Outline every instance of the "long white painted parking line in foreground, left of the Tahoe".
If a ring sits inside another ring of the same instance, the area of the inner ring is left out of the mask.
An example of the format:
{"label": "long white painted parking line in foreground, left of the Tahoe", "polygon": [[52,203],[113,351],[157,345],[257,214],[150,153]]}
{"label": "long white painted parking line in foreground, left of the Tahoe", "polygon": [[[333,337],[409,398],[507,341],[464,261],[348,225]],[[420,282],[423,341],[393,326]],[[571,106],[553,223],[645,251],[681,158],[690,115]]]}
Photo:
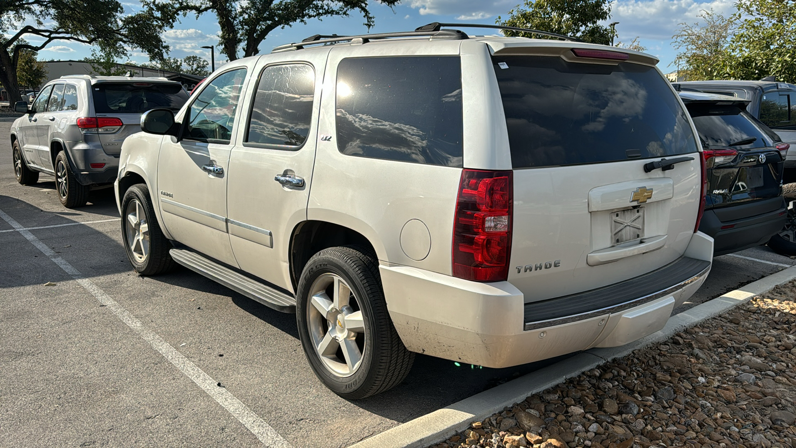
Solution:
{"label": "long white painted parking line in foreground, left of the Tahoe", "polygon": [[224,387],[218,387],[218,383],[215,379],[202,371],[196,364],[193,364],[185,358],[176,348],[163,340],[162,337],[144,327],[140,320],[136,319],[135,316],[124,309],[122,305],[114,301],[100,289],[100,287],[84,277],[74,266],[59,257],[53,250],[47,247],[45,243],[41,242],[27,229],[23,228],[14,218],[11,218],[2,210],[0,210],[0,218],[14,227],[14,231],[19,232],[25,239],[33,244],[33,246],[41,250],[41,253],[49,257],[60,269],[64,269],[65,273],[68,273],[80,286],[83,286],[89,293],[92,293],[92,296],[96,297],[102,305],[110,308],[111,311],[119,317],[119,320],[122,320],[128,327],[132,328],[133,331],[139,333],[139,336],[141,336],[143,340],[146,340],[152,348],[160,352],[171,364],[174,364],[174,367],[177,367],[185,376],[193,380],[194,383],[197,383],[197,386],[201,387],[203,391],[213,397],[224,409],[238,419],[239,422],[243,423],[248,430],[252,431],[252,434],[259,438],[260,442],[263,442],[266,446],[285,448],[291,446],[282,436],[277,434],[274,428],[264,422],[263,419],[260,419],[259,415],[252,412],[244,403],[241,403],[235,395],[232,395],[232,393],[227,391]]}

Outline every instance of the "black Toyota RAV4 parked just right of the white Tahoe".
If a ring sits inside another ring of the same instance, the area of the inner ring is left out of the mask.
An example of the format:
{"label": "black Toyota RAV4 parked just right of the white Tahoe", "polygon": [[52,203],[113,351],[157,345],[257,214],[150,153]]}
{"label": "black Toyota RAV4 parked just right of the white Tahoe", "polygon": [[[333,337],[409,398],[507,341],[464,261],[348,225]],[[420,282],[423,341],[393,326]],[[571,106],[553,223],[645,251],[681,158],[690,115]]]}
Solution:
{"label": "black Toyota RAV4 parked just right of the white Tahoe", "polygon": [[708,194],[700,231],[714,240],[713,253],[766,244],[786,222],[782,140],[746,111],[748,100],[680,92],[702,143]]}

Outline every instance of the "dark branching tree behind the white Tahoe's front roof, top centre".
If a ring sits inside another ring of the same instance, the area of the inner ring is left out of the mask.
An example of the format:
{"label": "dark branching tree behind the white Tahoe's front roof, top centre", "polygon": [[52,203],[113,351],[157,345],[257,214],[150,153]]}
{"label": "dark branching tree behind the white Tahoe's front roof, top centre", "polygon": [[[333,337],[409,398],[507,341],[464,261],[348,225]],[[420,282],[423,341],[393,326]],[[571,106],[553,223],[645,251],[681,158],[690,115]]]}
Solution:
{"label": "dark branching tree behind the white Tahoe's front roof, top centre", "polygon": [[[400,0],[379,0],[388,6]],[[160,18],[168,26],[174,26],[180,17],[212,13],[220,26],[220,52],[230,61],[259,53],[259,45],[268,33],[294,23],[306,23],[309,19],[330,16],[345,16],[358,10],[365,17],[365,25],[373,26],[367,0],[143,0],[146,11]]]}

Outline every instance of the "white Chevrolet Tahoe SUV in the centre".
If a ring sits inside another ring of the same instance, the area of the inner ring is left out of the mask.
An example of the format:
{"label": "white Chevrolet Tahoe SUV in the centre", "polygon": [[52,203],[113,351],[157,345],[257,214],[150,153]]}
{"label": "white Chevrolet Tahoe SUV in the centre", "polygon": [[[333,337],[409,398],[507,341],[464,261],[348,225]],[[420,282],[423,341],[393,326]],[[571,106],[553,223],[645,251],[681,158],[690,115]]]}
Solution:
{"label": "white Chevrolet Tahoe SUV in the centre", "polygon": [[347,399],[414,353],[508,367],[627,344],[713,253],[696,132],[656,63],[440,24],[232,61],[123,143],[127,255],[295,312]]}

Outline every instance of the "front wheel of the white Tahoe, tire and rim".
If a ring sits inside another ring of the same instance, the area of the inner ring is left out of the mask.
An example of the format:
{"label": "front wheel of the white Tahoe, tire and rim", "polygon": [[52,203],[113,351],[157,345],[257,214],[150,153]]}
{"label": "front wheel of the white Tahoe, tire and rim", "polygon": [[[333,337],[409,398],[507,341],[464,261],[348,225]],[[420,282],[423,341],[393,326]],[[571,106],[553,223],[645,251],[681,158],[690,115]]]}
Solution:
{"label": "front wheel of the white Tahoe, tire and rim", "polygon": [[158,225],[146,184],[135,184],[124,193],[122,239],[135,272],[157,275],[174,269],[176,262],[169,253],[171,243]]}

